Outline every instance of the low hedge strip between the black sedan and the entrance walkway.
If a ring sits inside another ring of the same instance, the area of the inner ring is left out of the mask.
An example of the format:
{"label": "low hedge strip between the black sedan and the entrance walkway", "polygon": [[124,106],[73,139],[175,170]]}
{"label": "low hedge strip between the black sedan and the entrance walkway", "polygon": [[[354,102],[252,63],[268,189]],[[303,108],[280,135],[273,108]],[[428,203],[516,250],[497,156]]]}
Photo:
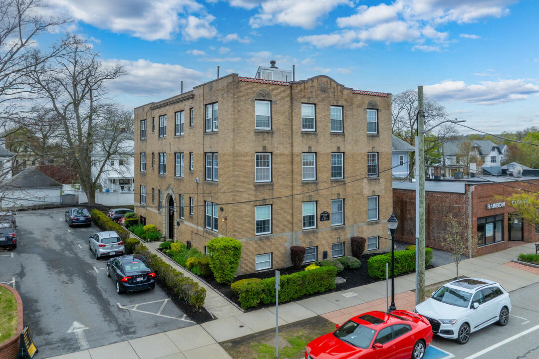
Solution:
{"label": "low hedge strip between the black sedan and the entrance walkway", "polygon": [[135,254],[146,257],[150,268],[156,276],[161,279],[180,299],[191,305],[195,309],[200,309],[204,305],[206,290],[198,285],[191,278],[184,277],[183,273],[172,268],[155,254],[151,254],[149,249],[141,244],[135,248]]}

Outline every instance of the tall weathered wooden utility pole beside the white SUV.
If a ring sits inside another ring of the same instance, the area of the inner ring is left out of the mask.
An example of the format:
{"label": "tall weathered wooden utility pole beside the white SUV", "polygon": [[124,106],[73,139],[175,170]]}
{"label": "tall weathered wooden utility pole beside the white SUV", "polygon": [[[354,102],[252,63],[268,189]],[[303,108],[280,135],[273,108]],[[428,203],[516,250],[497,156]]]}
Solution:
{"label": "tall weathered wooden utility pole beside the white SUV", "polygon": [[417,276],[417,304],[425,300],[425,113],[423,108],[423,86],[417,87],[418,116],[417,116],[417,149],[418,154],[418,189],[419,189],[419,236],[416,247],[418,266]]}

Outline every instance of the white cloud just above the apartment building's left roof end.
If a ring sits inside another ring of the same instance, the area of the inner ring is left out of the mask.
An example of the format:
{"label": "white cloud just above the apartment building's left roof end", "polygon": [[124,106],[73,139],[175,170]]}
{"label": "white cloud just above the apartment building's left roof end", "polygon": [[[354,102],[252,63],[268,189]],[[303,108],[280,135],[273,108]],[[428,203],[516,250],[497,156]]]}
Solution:
{"label": "white cloud just above the apartment building's left roof end", "polygon": [[[204,82],[205,75],[180,65],[157,64],[148,60],[104,60],[104,66],[121,65],[128,75],[108,83],[112,93],[133,96],[155,96],[163,98],[179,93],[179,81],[184,90]],[[144,84],[144,86],[141,86]]]}

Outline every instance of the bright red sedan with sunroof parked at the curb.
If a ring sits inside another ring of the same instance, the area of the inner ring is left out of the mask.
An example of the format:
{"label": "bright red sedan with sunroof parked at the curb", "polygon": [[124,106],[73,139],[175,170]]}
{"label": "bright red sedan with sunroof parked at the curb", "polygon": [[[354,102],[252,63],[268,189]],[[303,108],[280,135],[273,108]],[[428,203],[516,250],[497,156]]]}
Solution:
{"label": "bright red sedan with sunroof parked at the curb", "polygon": [[307,344],[305,359],[423,359],[432,328],[409,311],[367,312]]}

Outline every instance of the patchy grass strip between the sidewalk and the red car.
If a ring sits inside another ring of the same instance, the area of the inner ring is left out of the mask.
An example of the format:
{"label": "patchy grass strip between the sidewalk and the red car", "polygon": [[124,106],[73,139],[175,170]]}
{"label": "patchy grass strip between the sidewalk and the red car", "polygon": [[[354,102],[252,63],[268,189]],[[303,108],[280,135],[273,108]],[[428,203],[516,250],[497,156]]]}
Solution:
{"label": "patchy grass strip between the sidewalk and the red car", "polygon": [[[321,316],[279,326],[279,358],[303,358],[310,341],[334,330],[335,323]],[[275,328],[219,344],[234,359],[273,359],[276,351]]]}

